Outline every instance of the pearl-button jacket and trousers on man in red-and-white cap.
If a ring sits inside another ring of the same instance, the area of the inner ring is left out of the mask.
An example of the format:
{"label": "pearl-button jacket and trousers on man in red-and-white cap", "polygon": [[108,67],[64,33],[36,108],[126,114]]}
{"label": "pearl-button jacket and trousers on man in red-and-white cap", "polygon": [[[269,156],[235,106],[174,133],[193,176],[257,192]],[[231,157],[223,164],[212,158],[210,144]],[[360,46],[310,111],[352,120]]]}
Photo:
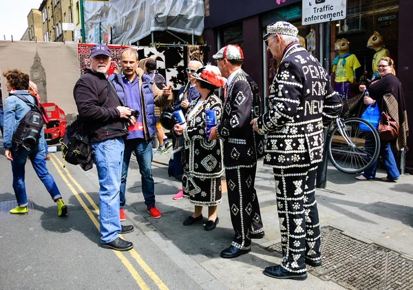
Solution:
{"label": "pearl-button jacket and trousers on man in red-and-white cap", "polygon": [[264,153],[264,138],[250,124],[260,115],[257,83],[242,69],[226,88],[218,136],[224,141],[224,167],[231,221],[235,230],[232,246],[251,249],[251,234],[264,234],[255,191],[257,159]]}

